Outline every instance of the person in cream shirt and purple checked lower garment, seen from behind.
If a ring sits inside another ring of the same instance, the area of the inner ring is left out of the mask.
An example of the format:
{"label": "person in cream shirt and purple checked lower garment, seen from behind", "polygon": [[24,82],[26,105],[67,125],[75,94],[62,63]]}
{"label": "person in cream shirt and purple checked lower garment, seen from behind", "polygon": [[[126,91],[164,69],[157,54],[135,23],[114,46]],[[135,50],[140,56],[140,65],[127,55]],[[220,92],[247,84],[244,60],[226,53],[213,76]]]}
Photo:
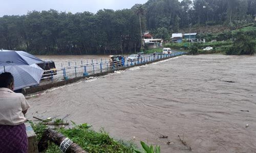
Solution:
{"label": "person in cream shirt and purple checked lower garment, seen from behind", "polygon": [[22,93],[13,92],[11,73],[0,74],[0,152],[28,152],[28,136],[24,122],[30,108]]}

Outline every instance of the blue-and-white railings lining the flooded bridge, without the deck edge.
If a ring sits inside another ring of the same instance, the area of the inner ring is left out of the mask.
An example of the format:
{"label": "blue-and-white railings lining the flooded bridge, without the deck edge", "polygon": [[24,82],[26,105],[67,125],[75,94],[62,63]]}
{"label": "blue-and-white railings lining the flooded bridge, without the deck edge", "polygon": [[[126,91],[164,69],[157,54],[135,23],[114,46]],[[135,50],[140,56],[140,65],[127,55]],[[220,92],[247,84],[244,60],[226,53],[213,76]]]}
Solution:
{"label": "blue-and-white railings lining the flooded bridge, without the deck edge", "polygon": [[147,54],[142,55],[134,60],[127,60],[127,57],[122,58],[119,61],[106,61],[106,60],[98,60],[98,62],[94,63],[76,63],[73,66],[64,66],[56,68],[55,70],[46,70],[42,75],[42,80],[48,79],[49,81],[61,81],[61,80],[68,80],[71,78],[77,77],[86,77],[90,74],[96,74],[101,72],[107,72],[110,70],[118,70],[121,67],[128,67],[138,64],[143,64],[150,61],[155,61],[163,58],[168,57],[176,57],[184,55],[185,52],[177,52],[172,54]]}

